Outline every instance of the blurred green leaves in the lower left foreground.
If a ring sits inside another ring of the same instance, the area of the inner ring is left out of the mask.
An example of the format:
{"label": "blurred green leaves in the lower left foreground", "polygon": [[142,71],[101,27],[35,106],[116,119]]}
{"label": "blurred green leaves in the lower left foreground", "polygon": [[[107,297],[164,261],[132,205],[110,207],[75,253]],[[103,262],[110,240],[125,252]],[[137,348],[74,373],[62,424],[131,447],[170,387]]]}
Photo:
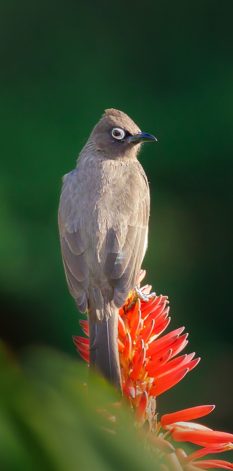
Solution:
{"label": "blurred green leaves in the lower left foreground", "polygon": [[[135,439],[125,406],[87,367],[52,349],[30,349],[20,364],[1,351],[0,470],[135,471],[154,464]],[[116,435],[103,412],[116,414]]]}

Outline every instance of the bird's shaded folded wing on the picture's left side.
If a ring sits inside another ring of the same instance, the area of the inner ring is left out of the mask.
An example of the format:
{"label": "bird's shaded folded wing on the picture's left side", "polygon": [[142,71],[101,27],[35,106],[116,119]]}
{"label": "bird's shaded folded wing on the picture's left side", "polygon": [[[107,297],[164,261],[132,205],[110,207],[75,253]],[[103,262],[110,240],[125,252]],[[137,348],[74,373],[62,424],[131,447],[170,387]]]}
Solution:
{"label": "bird's shaded folded wing on the picture's left side", "polygon": [[78,309],[81,312],[86,312],[85,290],[89,285],[89,270],[84,259],[83,241],[73,208],[75,180],[72,173],[64,179],[58,211],[58,225],[68,288],[76,300]]}

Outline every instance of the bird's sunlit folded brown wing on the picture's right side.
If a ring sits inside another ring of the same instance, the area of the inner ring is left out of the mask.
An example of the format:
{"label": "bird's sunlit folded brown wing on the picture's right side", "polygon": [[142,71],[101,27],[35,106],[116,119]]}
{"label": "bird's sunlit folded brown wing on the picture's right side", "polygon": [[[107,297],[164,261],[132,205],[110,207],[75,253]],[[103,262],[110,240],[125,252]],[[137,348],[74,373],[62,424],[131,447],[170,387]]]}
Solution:
{"label": "bird's sunlit folded brown wing on the picture's right side", "polygon": [[111,220],[104,271],[120,308],[135,287],[147,247],[150,194],[142,169],[130,173],[124,188],[116,188],[108,206]]}

